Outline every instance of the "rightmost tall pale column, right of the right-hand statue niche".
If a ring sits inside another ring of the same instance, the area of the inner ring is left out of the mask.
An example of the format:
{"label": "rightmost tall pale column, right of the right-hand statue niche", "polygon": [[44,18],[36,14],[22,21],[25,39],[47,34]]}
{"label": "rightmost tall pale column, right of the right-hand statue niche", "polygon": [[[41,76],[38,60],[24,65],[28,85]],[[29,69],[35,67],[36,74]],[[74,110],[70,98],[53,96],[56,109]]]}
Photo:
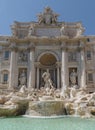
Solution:
{"label": "rightmost tall pale column, right of the right-hand statue niche", "polygon": [[81,49],[81,87],[86,86],[85,54]]}

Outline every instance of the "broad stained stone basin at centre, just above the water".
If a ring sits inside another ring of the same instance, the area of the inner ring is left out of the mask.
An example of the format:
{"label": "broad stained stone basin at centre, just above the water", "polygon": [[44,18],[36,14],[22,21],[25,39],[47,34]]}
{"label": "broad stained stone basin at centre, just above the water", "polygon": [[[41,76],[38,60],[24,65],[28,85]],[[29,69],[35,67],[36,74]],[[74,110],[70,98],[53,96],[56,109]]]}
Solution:
{"label": "broad stained stone basin at centre, just above the water", "polygon": [[29,102],[29,109],[26,114],[30,116],[53,116],[66,115],[66,112],[63,101],[47,100]]}

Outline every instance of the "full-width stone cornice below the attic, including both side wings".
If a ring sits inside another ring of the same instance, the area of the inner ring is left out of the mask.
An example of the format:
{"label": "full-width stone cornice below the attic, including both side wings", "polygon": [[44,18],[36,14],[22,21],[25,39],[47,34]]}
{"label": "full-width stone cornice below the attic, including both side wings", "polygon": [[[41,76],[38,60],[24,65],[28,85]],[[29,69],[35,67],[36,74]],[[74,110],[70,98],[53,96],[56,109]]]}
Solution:
{"label": "full-width stone cornice below the attic, including both side wings", "polygon": [[95,42],[87,42],[87,38],[86,36],[80,36],[80,37],[76,37],[76,38],[68,38],[67,36],[57,36],[57,37],[47,37],[47,36],[42,36],[42,37],[37,37],[37,36],[28,36],[25,37],[23,39],[17,38],[17,37],[8,37],[7,41],[0,41],[0,45],[1,46],[9,46],[11,43],[16,43],[16,45],[18,44],[30,44],[31,42],[36,44],[42,43],[42,44],[59,44],[59,43],[68,43],[69,44],[76,44],[78,42],[83,42],[84,44],[87,45],[95,45]]}

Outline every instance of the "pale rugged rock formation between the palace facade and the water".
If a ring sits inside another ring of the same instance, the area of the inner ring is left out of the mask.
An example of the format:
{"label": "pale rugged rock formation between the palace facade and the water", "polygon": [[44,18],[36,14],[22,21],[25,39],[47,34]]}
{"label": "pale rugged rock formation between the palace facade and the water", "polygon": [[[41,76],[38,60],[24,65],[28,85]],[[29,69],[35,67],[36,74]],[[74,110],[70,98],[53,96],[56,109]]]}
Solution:
{"label": "pale rugged rock formation between the palace facade and the water", "polygon": [[[51,88],[40,90],[3,92],[0,95],[0,116],[17,116],[25,113],[35,116],[74,115],[95,116],[95,93],[74,87],[62,90]],[[52,100],[51,98],[52,97]],[[40,100],[42,99],[42,100]]]}

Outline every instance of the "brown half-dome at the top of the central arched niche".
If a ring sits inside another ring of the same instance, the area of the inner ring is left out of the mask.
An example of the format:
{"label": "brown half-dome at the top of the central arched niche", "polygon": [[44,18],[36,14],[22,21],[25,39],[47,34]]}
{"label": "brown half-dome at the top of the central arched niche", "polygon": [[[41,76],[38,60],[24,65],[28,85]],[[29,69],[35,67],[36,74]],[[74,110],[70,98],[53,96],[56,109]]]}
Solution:
{"label": "brown half-dome at the top of the central arched niche", "polygon": [[41,56],[40,63],[44,66],[52,66],[56,64],[56,57],[53,54],[47,53]]}

